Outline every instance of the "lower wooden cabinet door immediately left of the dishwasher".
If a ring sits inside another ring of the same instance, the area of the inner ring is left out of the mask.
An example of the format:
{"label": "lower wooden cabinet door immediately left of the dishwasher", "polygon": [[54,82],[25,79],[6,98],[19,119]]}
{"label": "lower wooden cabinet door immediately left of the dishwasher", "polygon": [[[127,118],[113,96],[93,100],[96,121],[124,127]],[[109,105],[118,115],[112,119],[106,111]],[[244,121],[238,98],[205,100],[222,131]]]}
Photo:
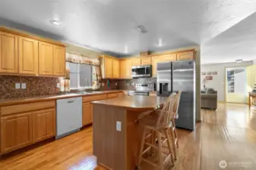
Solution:
{"label": "lower wooden cabinet door immediately left of the dishwasher", "polygon": [[55,109],[33,112],[33,142],[55,136]]}

